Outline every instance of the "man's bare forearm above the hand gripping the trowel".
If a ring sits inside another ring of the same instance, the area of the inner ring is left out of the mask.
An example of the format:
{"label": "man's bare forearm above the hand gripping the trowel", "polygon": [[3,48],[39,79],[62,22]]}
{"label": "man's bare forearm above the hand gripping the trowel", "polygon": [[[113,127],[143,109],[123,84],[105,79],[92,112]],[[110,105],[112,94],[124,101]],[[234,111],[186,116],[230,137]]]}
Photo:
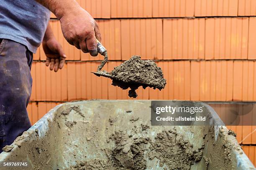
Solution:
{"label": "man's bare forearm above the hand gripping the trowel", "polygon": [[36,0],[41,5],[48,8],[58,19],[67,13],[73,13],[80,8],[76,0]]}

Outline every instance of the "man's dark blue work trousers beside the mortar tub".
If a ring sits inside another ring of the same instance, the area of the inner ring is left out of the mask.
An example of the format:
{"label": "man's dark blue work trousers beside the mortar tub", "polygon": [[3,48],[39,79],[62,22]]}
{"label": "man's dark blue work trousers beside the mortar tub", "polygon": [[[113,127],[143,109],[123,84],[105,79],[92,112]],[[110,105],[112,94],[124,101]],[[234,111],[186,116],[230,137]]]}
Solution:
{"label": "man's dark blue work trousers beside the mortar tub", "polygon": [[31,127],[26,108],[32,61],[33,53],[26,46],[0,39],[0,152]]}

